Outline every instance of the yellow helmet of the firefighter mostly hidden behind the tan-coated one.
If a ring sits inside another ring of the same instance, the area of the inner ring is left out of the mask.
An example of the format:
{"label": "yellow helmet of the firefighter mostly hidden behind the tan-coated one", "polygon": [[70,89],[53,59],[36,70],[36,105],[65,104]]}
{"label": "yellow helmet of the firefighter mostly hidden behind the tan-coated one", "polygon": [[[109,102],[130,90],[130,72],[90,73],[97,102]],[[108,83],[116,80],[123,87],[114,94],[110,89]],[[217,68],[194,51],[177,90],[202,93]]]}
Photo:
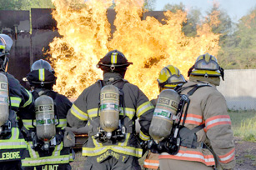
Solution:
{"label": "yellow helmet of the firefighter mostly hidden behind the tan-coated one", "polygon": [[168,65],[167,67],[163,67],[158,77],[158,85],[160,91],[163,88],[171,88],[173,89],[180,83],[185,83],[186,80],[183,75],[180,73],[177,67],[173,65]]}

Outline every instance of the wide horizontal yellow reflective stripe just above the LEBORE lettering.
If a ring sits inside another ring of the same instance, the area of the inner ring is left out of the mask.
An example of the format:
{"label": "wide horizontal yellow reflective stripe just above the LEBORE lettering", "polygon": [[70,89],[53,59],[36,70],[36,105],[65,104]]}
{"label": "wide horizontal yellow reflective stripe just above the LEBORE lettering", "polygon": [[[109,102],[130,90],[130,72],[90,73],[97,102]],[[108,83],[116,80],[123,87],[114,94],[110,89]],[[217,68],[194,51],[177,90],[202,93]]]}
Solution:
{"label": "wide horizontal yellow reflective stripe just above the LEBORE lettering", "polygon": [[15,149],[27,148],[27,143],[24,139],[8,139],[0,140],[0,149]]}

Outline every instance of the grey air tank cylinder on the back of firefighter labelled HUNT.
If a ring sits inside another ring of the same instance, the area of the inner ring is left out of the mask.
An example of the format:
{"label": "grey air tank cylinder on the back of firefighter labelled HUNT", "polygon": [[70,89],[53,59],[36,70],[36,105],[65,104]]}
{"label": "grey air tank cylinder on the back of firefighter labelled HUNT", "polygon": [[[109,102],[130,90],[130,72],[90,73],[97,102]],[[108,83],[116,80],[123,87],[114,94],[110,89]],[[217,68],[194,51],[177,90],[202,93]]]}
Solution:
{"label": "grey air tank cylinder on the back of firefighter labelled HUNT", "polygon": [[49,142],[56,135],[53,98],[47,95],[38,97],[35,101],[35,111],[38,139]]}

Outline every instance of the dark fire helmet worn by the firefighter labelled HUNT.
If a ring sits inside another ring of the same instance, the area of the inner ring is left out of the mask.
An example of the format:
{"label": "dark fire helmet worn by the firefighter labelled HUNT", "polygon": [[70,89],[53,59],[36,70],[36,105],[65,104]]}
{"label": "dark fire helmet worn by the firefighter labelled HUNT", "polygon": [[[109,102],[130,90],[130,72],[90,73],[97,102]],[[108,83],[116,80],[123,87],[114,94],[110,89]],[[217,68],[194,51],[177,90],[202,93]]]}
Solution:
{"label": "dark fire helmet worn by the firefighter labelled HUNT", "polygon": [[54,75],[53,67],[50,63],[40,59],[33,63],[30,72],[27,75],[30,86],[33,87],[53,87],[57,77]]}

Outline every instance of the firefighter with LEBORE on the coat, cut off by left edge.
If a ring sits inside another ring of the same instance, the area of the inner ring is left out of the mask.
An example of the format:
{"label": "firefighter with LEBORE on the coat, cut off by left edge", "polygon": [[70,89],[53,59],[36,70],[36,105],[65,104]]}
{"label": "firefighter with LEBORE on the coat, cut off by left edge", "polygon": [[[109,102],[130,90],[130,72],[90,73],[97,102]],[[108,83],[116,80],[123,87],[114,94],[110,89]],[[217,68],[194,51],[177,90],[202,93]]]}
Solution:
{"label": "firefighter with LEBORE on the coat, cut off by left edge", "polygon": [[27,144],[19,117],[33,113],[33,97],[13,75],[7,72],[11,37],[0,34],[0,168],[21,169],[21,159],[28,157]]}

